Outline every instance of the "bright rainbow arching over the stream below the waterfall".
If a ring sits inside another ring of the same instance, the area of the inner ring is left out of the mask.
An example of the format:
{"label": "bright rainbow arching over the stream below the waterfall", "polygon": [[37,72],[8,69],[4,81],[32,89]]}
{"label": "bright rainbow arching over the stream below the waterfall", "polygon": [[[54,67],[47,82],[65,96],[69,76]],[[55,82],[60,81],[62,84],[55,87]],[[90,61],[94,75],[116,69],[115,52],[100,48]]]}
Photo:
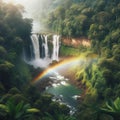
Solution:
{"label": "bright rainbow arching over the stream below the waterfall", "polygon": [[32,83],[36,83],[37,81],[39,81],[40,79],[42,79],[44,76],[46,76],[48,73],[50,73],[51,71],[58,69],[60,67],[64,67],[65,65],[70,65],[73,63],[77,63],[80,61],[80,59],[82,59],[81,57],[72,57],[72,58],[67,58],[67,60],[63,60],[55,65],[50,66],[49,68],[47,68],[46,70],[44,70],[43,72],[41,72],[37,77],[35,77],[32,81]]}

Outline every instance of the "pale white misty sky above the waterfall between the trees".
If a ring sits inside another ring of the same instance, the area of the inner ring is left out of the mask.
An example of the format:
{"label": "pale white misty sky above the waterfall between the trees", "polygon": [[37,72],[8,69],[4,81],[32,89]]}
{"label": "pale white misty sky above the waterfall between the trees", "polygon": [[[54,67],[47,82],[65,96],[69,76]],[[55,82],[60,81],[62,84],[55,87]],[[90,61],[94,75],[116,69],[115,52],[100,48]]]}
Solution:
{"label": "pale white misty sky above the waterfall between the trees", "polygon": [[43,24],[43,20],[46,19],[48,13],[54,10],[60,5],[63,0],[5,0],[6,2],[12,2],[14,4],[21,4],[25,12],[23,17],[33,19],[33,33],[39,33],[41,31],[47,31],[47,27]]}

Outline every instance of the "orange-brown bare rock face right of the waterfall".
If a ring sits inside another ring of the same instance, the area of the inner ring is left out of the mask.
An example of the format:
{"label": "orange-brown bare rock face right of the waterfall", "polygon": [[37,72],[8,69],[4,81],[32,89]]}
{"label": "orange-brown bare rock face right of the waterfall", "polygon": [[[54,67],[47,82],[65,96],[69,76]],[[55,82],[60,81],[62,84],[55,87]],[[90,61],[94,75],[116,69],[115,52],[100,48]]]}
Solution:
{"label": "orange-brown bare rock face right of the waterfall", "polygon": [[72,47],[79,47],[80,45],[90,47],[91,41],[88,38],[62,38],[62,44]]}

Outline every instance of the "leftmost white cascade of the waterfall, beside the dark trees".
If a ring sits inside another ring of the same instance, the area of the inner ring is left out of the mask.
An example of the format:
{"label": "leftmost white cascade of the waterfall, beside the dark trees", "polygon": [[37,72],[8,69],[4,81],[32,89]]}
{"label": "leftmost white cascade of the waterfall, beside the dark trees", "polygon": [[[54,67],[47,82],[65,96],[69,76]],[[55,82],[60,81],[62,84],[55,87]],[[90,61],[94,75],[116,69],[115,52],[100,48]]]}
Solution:
{"label": "leftmost white cascade of the waterfall, beside the dark trees", "polygon": [[32,34],[31,40],[33,44],[34,56],[35,59],[40,59],[40,51],[39,51],[39,35]]}

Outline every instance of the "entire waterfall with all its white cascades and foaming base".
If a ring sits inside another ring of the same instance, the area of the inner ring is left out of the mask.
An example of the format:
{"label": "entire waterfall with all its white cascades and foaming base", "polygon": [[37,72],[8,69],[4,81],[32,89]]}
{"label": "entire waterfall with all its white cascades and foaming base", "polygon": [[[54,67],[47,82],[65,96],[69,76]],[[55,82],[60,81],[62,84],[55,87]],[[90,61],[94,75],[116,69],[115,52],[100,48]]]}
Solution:
{"label": "entire waterfall with all its white cascades and foaming base", "polygon": [[[31,53],[34,53],[34,56],[31,56],[34,59],[28,61],[29,64],[33,65],[35,68],[37,67],[47,67],[53,61],[59,60],[59,35],[53,35],[52,40],[48,40],[48,35],[38,35],[32,34],[31,41],[32,46]],[[53,44],[53,48],[51,50],[51,43]],[[50,51],[49,51],[50,50]],[[32,54],[31,54],[32,55]]]}

